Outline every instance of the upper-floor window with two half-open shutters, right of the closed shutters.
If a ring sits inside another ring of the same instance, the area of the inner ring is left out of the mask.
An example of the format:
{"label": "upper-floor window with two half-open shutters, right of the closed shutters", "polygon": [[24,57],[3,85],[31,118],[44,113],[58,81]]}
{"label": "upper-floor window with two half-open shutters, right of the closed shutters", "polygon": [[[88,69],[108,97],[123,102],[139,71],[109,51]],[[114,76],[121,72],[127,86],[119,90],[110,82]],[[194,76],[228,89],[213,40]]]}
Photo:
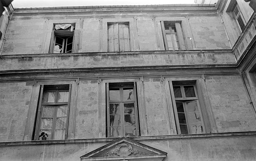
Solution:
{"label": "upper-floor window with two half-open shutters, right of the closed shutters", "polygon": [[180,23],[161,21],[165,50],[185,50]]}

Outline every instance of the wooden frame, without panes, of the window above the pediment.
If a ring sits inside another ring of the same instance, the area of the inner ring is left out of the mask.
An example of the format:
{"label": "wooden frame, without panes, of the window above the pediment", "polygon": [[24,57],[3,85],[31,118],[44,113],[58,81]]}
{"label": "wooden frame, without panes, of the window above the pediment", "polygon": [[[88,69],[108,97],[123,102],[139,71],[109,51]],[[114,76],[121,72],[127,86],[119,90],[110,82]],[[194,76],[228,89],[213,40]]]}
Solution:
{"label": "wooden frame, without panes, of the window above the pediment", "polygon": [[[130,85],[130,83],[133,83],[133,86]],[[122,120],[121,122],[121,130],[123,132],[123,135],[121,136],[114,136],[114,137],[123,137],[125,136],[125,128],[124,128],[124,103],[134,103],[134,115],[135,115],[135,126],[136,126],[136,136],[140,136],[139,133],[139,118],[138,118],[138,103],[137,103],[137,91],[136,91],[136,82],[122,82],[122,83],[117,83],[119,85],[109,85],[110,83],[107,83],[106,87],[107,87],[107,91],[106,91],[106,101],[107,101],[107,137],[111,137],[110,134],[110,104],[114,104],[114,103],[120,103],[121,104],[121,114],[120,115],[120,120]],[[114,83],[111,83],[114,84]],[[120,94],[120,99],[121,100],[110,100],[109,98],[109,89],[110,88],[119,88],[119,94]],[[134,101],[127,101],[123,99],[123,88],[133,88],[134,91]]]}

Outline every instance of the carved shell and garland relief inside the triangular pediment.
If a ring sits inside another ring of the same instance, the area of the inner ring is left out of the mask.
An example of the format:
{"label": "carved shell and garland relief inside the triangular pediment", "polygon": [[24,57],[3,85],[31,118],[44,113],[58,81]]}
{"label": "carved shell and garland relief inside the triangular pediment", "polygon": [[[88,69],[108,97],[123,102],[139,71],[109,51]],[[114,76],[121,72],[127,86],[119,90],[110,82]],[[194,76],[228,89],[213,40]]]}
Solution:
{"label": "carved shell and garland relief inside the triangular pediment", "polygon": [[133,155],[147,155],[146,153],[141,152],[139,150],[136,150],[136,149],[132,150],[132,146],[130,144],[122,143],[122,144],[117,144],[116,145],[115,151],[109,151],[109,152],[103,154],[103,157],[112,157],[112,156],[115,156],[115,155],[128,156],[130,154],[133,154]]}

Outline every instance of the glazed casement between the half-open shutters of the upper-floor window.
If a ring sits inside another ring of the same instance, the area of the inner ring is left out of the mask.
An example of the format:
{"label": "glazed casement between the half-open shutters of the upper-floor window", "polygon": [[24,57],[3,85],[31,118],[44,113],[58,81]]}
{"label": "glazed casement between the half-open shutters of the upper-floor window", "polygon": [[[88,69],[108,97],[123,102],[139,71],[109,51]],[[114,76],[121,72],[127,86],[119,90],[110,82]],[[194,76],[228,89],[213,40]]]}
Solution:
{"label": "glazed casement between the half-open shutters of the upper-floor window", "polygon": [[180,44],[175,25],[165,24],[164,29],[167,41],[167,44],[165,44],[166,48],[168,50],[180,50]]}

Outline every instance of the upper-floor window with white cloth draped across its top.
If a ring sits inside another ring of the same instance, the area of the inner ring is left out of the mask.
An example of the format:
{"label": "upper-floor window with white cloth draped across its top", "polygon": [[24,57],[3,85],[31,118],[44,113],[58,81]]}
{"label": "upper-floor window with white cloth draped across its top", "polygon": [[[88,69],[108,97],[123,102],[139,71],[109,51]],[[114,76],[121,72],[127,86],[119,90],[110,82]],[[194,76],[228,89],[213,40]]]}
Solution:
{"label": "upper-floor window with white cloth draped across its top", "polygon": [[73,49],[74,26],[71,24],[55,25],[51,53],[71,53]]}

